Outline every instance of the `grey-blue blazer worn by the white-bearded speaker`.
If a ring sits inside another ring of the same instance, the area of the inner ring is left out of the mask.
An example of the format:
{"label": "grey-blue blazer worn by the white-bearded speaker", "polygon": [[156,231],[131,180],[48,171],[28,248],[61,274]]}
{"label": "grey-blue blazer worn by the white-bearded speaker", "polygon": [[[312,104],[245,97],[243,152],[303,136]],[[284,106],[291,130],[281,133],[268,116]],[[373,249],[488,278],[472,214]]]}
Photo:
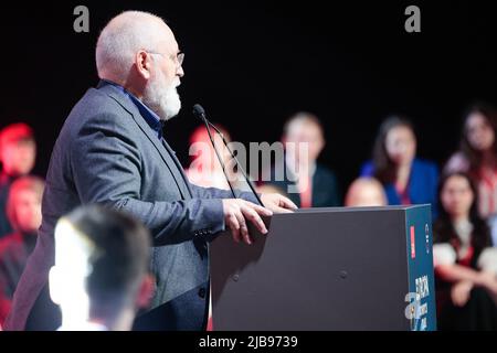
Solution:
{"label": "grey-blue blazer worn by the white-bearded speaker", "polygon": [[[118,88],[101,83],[88,89],[65,120],[52,151],[38,244],[19,282],[6,329],[24,328],[46,285],[54,263],[56,221],[88,203],[128,212],[151,231],[156,288],[150,309],[200,288],[194,296],[200,302],[192,303],[192,296],[179,300],[168,320],[172,321],[169,328],[201,329],[198,322],[208,299],[202,286],[209,280],[209,240],[224,229],[220,200],[224,197],[232,197],[231,192],[188,181],[175,151],[158,139]],[[247,193],[241,197],[256,202]]]}

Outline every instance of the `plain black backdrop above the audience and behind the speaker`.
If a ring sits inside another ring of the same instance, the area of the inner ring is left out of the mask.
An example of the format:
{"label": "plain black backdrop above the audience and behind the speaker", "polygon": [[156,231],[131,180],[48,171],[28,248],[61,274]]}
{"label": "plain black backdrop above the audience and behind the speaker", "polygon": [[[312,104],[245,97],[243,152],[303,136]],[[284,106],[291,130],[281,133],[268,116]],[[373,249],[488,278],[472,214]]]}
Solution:
{"label": "plain black backdrop above the audience and behind the speaker", "polygon": [[[89,9],[89,33],[73,31],[77,4]],[[404,31],[409,4],[421,8],[421,33]],[[194,103],[242,142],[278,140],[290,114],[315,113],[328,140],[321,161],[342,189],[370,157],[387,115],[411,117],[419,156],[443,163],[457,147],[464,108],[497,103],[490,1],[2,3],[0,127],[34,127],[36,173],[44,175],[72,106],[97,84],[99,30],[129,9],[165,18],[186,53],[183,109],[166,125],[184,164]]]}

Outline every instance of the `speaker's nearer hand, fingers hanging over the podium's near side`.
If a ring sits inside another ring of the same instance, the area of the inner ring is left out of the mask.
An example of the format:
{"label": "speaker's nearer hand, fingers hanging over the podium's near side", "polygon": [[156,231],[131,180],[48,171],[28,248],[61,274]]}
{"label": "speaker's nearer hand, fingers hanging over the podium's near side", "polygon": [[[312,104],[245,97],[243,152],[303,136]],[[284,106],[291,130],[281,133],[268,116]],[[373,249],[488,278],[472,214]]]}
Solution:
{"label": "speaker's nearer hand, fingers hanging over the podium's near side", "polygon": [[247,221],[252,222],[262,234],[267,233],[266,225],[261,216],[272,216],[272,211],[241,199],[224,199],[222,202],[224,223],[231,229],[236,243],[243,239],[246,244],[252,244]]}

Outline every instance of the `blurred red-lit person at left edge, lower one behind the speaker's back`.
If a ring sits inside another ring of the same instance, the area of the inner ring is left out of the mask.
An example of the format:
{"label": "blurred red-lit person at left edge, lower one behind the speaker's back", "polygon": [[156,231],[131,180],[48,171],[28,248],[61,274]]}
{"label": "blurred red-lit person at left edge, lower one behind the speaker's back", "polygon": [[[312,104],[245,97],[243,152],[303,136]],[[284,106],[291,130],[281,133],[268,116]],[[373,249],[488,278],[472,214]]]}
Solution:
{"label": "blurred red-lit person at left edge, lower one behind the speaker's back", "polygon": [[9,313],[13,292],[36,244],[43,189],[43,180],[36,176],[21,176],[10,188],[7,215],[13,233],[0,239],[0,324]]}

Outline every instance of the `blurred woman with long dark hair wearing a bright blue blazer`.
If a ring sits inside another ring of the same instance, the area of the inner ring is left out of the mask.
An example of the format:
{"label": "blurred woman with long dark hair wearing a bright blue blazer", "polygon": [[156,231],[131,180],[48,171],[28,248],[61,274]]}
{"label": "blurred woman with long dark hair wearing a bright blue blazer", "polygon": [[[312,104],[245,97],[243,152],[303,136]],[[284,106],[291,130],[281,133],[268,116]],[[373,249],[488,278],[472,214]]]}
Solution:
{"label": "blurred woman with long dark hair wearing a bright blue blazer", "polygon": [[411,121],[393,116],[380,126],[372,161],[361,176],[374,176],[384,188],[390,205],[431,204],[436,216],[438,168],[416,158],[416,137]]}

